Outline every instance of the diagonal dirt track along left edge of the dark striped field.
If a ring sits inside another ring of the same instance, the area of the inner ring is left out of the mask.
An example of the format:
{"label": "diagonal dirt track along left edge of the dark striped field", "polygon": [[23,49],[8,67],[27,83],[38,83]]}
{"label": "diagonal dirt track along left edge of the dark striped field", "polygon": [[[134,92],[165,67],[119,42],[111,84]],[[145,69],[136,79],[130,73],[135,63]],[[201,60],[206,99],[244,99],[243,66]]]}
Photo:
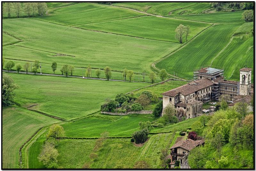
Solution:
{"label": "diagonal dirt track along left edge of the dark striped field", "polygon": [[[192,37],[192,39],[190,39],[187,43],[185,43],[185,44],[181,45],[179,48],[173,50],[170,54],[168,54],[168,55],[162,57],[160,60],[158,60],[158,61],[152,63],[151,66],[152,66],[154,69],[156,69],[157,71],[160,71],[160,69],[156,68],[156,64],[157,64],[157,63],[163,61],[164,59],[166,59],[166,58],[172,56],[173,54],[175,54],[176,52],[178,52],[180,49],[186,47],[190,42],[192,42],[193,40],[195,40],[201,33],[203,33],[205,30],[208,30],[209,28],[211,28],[211,27],[213,27],[213,26],[215,26],[215,24],[212,24],[211,26],[206,27],[204,30],[202,30],[201,32],[197,33],[194,37]],[[173,77],[172,74],[169,74],[169,73],[168,73],[168,75],[170,75],[170,76]]]}

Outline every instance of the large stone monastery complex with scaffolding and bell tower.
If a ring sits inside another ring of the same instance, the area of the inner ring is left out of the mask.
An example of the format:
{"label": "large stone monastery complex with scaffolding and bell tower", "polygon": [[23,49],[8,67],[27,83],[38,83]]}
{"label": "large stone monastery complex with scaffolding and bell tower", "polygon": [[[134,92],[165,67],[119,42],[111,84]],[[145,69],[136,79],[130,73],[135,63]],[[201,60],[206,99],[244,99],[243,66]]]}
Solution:
{"label": "large stone monastery complex with scaffolding and bell tower", "polygon": [[202,113],[203,103],[219,100],[220,96],[225,96],[229,102],[239,101],[245,96],[248,100],[253,93],[251,76],[252,69],[247,67],[240,69],[240,82],[225,80],[223,70],[201,68],[194,72],[195,81],[162,93],[163,110],[171,103],[179,119],[183,116],[188,119]]}

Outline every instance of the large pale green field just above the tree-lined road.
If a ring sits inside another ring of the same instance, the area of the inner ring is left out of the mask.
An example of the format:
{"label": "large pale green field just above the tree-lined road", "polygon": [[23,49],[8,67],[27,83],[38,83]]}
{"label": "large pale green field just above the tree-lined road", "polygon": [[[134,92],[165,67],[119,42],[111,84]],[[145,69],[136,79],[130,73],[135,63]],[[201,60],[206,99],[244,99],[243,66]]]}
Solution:
{"label": "large pale green field just above the tree-lined road", "polygon": [[[18,30],[17,26],[19,26]],[[15,44],[27,47],[23,52],[37,49],[43,53],[46,51],[55,55],[57,53],[71,55],[28,56],[26,52],[26,55],[21,53],[21,56],[17,54],[12,56],[8,53],[13,52],[4,50],[6,55],[3,56],[6,58],[29,61],[37,59],[47,63],[56,61],[57,63],[73,64],[80,67],[87,67],[91,64],[91,67],[94,68],[105,68],[108,65],[115,70],[127,68],[133,71],[149,72],[151,63],[180,46],[178,43],[97,33],[35,19],[4,19],[3,29],[24,40]],[[12,49],[15,50],[15,48]],[[33,53],[28,52],[28,54]]]}

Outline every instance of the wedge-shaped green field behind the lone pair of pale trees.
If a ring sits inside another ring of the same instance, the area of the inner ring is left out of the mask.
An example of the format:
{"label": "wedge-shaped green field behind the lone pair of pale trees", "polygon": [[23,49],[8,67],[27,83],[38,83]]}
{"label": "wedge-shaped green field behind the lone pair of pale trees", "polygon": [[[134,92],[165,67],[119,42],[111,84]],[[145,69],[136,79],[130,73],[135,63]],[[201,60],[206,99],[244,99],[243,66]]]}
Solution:
{"label": "wedge-shaped green field behind the lone pair of pale trees", "polygon": [[210,26],[210,24],[193,21],[146,16],[109,22],[92,23],[81,25],[79,27],[90,30],[138,36],[148,39],[178,42],[175,39],[175,29],[180,24],[190,27],[188,40],[206,27]]}

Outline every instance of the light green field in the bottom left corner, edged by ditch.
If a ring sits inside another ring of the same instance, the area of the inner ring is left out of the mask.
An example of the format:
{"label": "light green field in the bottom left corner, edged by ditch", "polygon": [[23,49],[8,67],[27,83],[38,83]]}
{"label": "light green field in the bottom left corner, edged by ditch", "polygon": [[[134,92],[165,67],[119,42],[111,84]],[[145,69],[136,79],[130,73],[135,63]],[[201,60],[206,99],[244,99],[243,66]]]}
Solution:
{"label": "light green field in the bottom left corner, edged by ditch", "polygon": [[19,148],[40,127],[59,122],[27,109],[11,106],[2,114],[2,168],[19,167]]}

